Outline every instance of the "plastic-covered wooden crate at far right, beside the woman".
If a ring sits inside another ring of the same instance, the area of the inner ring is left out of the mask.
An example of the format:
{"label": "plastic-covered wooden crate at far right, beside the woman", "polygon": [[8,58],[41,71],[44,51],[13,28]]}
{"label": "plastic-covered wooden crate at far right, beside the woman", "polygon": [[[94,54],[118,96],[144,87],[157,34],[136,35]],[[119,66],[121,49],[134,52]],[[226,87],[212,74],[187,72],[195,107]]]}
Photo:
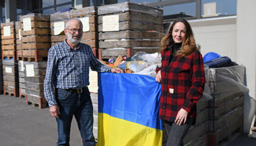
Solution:
{"label": "plastic-covered wooden crate at far right, beside the woman", "polygon": [[245,67],[210,68],[207,145],[222,145],[243,131]]}

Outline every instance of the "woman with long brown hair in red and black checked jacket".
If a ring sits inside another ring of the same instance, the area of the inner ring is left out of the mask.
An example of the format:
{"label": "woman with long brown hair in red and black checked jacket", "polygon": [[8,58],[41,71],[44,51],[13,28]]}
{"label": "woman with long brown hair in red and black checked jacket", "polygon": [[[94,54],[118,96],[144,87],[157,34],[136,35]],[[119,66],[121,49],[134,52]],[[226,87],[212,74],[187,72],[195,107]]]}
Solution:
{"label": "woman with long brown hair in red and black checked jacket", "polygon": [[183,18],[170,25],[161,48],[162,67],[156,70],[156,81],[162,84],[159,118],[168,134],[167,145],[183,145],[189,127],[195,123],[195,103],[203,94],[203,58],[191,26]]}

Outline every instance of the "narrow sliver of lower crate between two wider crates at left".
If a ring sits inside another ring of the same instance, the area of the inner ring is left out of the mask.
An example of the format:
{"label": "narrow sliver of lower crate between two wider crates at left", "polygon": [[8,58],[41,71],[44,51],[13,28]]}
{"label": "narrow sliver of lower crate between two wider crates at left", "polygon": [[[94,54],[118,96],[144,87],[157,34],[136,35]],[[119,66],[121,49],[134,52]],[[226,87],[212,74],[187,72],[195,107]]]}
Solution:
{"label": "narrow sliver of lower crate between two wider crates at left", "polygon": [[18,60],[18,70],[19,70],[19,93],[20,98],[26,96],[26,86],[25,86],[25,74],[24,74],[24,61]]}

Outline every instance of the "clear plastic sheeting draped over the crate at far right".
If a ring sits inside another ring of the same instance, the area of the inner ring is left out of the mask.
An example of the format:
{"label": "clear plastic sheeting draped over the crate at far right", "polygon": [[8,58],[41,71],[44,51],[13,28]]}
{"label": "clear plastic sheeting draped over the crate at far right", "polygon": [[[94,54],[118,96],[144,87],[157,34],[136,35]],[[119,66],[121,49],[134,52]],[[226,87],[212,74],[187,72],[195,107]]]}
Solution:
{"label": "clear plastic sheeting draped over the crate at far right", "polygon": [[245,66],[210,68],[205,72],[205,77],[206,84],[210,87],[211,95],[214,97],[213,104],[223,104],[238,96],[244,96],[243,130],[244,133],[249,133],[255,116],[256,102],[249,96],[249,88],[246,86]]}

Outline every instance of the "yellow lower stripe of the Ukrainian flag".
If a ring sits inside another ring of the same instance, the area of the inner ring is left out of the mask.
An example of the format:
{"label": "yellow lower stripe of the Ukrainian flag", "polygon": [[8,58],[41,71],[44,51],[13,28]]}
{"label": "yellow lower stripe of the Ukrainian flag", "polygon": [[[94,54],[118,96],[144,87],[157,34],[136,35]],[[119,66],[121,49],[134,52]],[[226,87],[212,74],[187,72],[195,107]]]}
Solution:
{"label": "yellow lower stripe of the Ukrainian flag", "polygon": [[161,146],[162,131],[98,113],[97,146]]}

